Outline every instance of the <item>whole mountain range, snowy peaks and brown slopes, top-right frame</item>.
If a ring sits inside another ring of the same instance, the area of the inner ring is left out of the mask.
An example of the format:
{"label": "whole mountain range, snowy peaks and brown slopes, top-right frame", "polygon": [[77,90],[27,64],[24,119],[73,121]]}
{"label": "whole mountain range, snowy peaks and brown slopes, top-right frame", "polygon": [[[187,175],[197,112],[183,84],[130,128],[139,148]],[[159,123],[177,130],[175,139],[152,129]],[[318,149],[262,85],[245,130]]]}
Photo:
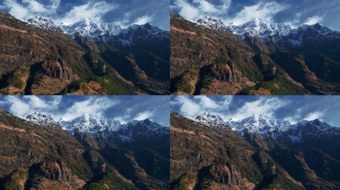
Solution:
{"label": "whole mountain range, snowy peaks and brown slopes, top-right frame", "polygon": [[170,14],[174,95],[338,95],[340,32]]}

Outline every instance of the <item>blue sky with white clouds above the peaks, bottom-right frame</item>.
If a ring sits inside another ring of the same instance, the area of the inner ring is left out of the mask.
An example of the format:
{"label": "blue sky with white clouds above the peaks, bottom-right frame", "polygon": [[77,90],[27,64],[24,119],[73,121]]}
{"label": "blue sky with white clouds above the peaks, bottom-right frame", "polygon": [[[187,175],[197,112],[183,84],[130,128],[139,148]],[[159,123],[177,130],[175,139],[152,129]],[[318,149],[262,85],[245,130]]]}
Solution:
{"label": "blue sky with white clouds above the peaks, bottom-right frame", "polygon": [[184,116],[205,111],[223,119],[244,119],[254,114],[286,119],[292,124],[301,120],[320,119],[340,127],[340,96],[337,95],[182,95],[170,97],[171,110]]}

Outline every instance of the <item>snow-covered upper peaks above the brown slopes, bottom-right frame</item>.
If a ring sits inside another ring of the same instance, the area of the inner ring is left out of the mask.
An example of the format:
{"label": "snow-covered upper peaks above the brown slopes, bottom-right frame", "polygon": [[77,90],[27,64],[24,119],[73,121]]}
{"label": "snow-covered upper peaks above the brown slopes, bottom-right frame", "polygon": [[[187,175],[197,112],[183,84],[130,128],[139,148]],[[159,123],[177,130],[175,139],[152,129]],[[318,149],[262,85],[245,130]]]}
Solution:
{"label": "snow-covered upper peaks above the brown slopes, bottom-right frame", "polygon": [[261,139],[304,142],[308,139],[318,139],[326,136],[340,135],[340,129],[316,119],[290,124],[284,119],[269,119],[259,115],[235,120],[224,121],[219,115],[205,112],[196,116],[186,117],[211,127],[228,128],[238,132],[242,137],[252,135]]}

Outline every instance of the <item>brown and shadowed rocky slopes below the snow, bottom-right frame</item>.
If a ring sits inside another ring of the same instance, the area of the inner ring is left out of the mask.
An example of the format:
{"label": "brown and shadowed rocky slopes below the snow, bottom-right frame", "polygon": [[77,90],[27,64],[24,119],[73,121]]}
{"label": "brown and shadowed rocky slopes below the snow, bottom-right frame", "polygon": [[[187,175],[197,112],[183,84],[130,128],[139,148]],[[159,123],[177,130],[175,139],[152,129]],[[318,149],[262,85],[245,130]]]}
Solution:
{"label": "brown and shadowed rocky slopes below the snow, bottom-right frame", "polygon": [[331,150],[338,136],[298,143],[241,137],[175,112],[170,124],[172,190],[339,189],[339,155]]}

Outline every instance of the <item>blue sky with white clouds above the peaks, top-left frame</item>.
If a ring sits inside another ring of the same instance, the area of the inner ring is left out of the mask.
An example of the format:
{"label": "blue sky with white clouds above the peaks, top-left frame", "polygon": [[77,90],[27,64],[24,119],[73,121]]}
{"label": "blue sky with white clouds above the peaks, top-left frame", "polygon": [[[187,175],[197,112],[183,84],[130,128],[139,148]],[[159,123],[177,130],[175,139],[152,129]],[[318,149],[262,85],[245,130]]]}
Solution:
{"label": "blue sky with white clouds above the peaks, top-left frame", "polygon": [[75,23],[87,17],[115,22],[123,28],[149,22],[170,30],[169,0],[0,0],[0,9],[18,19],[39,14],[57,24]]}

